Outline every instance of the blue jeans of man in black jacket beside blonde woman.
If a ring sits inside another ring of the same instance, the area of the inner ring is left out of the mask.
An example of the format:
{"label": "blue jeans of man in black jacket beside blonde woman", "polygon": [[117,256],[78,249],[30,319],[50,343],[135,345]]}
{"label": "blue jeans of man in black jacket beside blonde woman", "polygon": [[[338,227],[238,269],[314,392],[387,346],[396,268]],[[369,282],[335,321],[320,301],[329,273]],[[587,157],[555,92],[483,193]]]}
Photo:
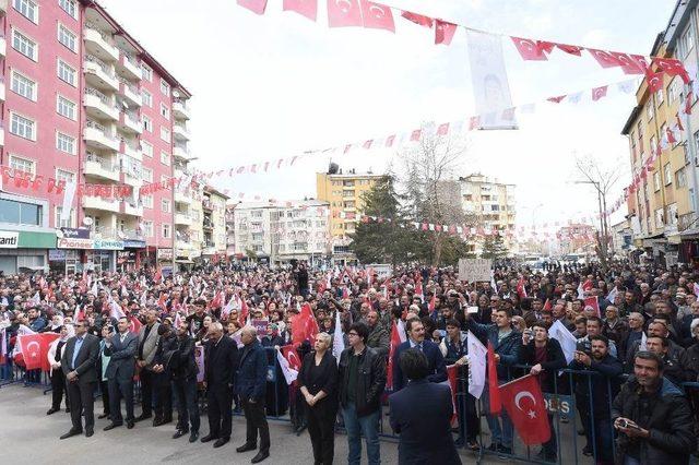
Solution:
{"label": "blue jeans of man in black jacket beside blonde woman", "polygon": [[347,403],[346,407],[342,407],[350,448],[347,454],[348,465],[359,465],[362,461],[362,438],[359,433],[364,434],[367,443],[369,465],[379,465],[381,463],[381,446],[379,444],[380,415],[381,409],[378,409],[364,417],[357,417],[357,409],[353,402]]}

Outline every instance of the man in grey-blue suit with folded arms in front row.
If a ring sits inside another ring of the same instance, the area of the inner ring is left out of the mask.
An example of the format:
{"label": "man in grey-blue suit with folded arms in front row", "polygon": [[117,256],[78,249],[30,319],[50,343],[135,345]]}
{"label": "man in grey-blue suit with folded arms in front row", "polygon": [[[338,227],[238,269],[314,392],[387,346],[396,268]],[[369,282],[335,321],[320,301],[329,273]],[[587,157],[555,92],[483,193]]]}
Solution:
{"label": "man in grey-blue suit with folded arms in front row", "polygon": [[135,349],[138,337],[129,331],[129,320],[121,317],[117,323],[119,332],[105,338],[105,355],[109,365],[105,372],[109,384],[109,413],[111,422],[105,431],[123,425],[121,397],[127,407],[127,428],[133,428],[133,373],[135,371]]}

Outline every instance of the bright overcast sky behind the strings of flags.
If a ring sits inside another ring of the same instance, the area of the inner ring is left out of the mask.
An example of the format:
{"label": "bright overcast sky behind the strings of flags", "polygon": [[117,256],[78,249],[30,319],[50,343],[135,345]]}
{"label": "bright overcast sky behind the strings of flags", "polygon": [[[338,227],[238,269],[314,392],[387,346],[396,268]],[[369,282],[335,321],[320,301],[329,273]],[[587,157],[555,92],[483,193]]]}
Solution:
{"label": "bright overcast sky behind the strings of flags", "polygon": [[[329,29],[320,2],[312,23],[283,12],[282,0],[270,0],[263,16],[234,0],[100,0],[194,95],[191,147],[202,170],[381,138],[424,121],[453,121],[475,112],[463,29],[450,47],[435,46],[433,32],[395,13],[396,34]],[[675,1],[387,3],[488,32],[649,55]],[[535,62],[523,61],[508,38],[503,48],[513,104],[538,104],[534,114],[519,118],[518,131],[472,132],[462,175],[481,171],[516,183],[520,226],[590,217],[596,195],[588,186],[572,183],[580,179],[576,154],[624,171],[608,199],[614,202],[630,181],[628,144],[620,131],[635,97],[611,92],[596,103],[556,106],[543,100],[628,76],[619,69],[601,69],[588,55],[554,51],[548,61]],[[398,156],[355,151],[333,160],[344,169],[379,172]],[[315,172],[328,162],[328,156],[305,158],[293,168],[213,183],[245,192],[246,199],[313,196]]]}

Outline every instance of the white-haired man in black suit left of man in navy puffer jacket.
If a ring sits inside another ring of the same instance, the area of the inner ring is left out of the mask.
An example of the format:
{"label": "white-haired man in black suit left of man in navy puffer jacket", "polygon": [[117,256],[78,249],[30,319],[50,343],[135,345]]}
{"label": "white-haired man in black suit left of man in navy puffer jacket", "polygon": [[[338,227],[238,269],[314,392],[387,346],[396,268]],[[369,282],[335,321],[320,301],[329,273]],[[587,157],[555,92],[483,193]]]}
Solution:
{"label": "white-haired man in black suit left of man in navy puffer jacket", "polygon": [[209,342],[204,351],[204,381],[209,400],[209,434],[201,442],[214,442],[221,448],[230,441],[233,386],[238,369],[238,345],[230,337],[224,337],[223,325],[209,325]]}

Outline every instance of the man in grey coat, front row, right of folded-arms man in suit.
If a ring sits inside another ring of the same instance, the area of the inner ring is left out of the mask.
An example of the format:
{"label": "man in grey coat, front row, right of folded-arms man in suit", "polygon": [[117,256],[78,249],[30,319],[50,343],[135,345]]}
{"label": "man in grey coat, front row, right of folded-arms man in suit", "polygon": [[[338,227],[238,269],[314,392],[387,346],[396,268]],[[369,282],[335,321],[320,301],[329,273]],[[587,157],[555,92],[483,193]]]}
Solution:
{"label": "man in grey coat, front row, right of folded-arms man in suit", "polygon": [[[153,415],[153,385],[155,383],[156,373],[153,372],[153,360],[157,349],[157,329],[161,323],[157,322],[157,310],[150,308],[145,313],[145,325],[139,331],[139,345],[135,353],[135,365],[141,379],[141,408],[142,413],[135,421],[145,420]],[[162,403],[156,400],[155,418],[153,426],[163,425],[163,415],[161,410]],[[158,412],[161,415],[158,416]]]}

